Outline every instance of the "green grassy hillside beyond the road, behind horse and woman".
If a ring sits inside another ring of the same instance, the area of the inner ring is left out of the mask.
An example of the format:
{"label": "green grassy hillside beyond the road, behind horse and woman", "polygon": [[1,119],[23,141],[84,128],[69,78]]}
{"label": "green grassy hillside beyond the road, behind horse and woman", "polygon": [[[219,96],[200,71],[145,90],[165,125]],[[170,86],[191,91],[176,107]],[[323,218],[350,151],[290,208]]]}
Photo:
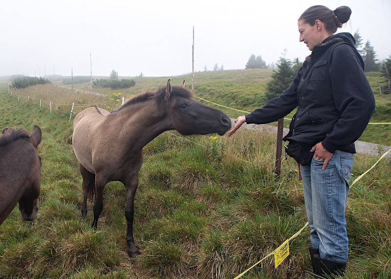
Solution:
{"label": "green grassy hillside beyond the road, behind horse and woman", "polygon": [[[208,71],[195,73],[195,94],[206,100],[233,107],[244,111],[252,111],[264,105],[262,97],[266,90],[266,83],[270,79],[272,71],[267,69],[246,69],[227,71]],[[103,94],[118,93],[129,97],[145,90],[156,90],[159,86],[165,86],[167,79],[172,79],[173,85],[181,85],[186,80],[186,85],[191,88],[191,75],[159,78],[133,78],[136,86],[128,89],[112,90],[109,88],[94,88],[94,92]],[[375,93],[376,110],[371,122],[391,122],[391,95],[379,95],[380,76],[378,72],[367,73],[369,84]],[[76,85],[75,88],[90,90],[89,84]],[[207,104],[207,103],[206,103]],[[211,105],[211,104],[209,104]],[[243,112],[211,105],[223,110],[232,118],[238,117]],[[293,116],[295,111],[287,117]],[[276,125],[276,124],[274,124]],[[285,128],[289,127],[289,121],[285,121]],[[361,141],[391,145],[391,125],[369,125]]]}

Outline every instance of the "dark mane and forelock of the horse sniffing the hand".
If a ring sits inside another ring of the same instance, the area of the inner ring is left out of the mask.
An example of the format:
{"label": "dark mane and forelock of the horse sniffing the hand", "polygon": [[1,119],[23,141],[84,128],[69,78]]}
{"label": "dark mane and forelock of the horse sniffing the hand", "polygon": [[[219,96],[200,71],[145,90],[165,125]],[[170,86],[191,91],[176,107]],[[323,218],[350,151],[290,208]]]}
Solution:
{"label": "dark mane and forelock of the horse sniffing the hand", "polygon": [[[129,107],[133,104],[142,103],[142,102],[152,100],[152,99],[154,99],[156,101],[156,104],[159,106],[164,102],[164,95],[165,94],[166,94],[165,87],[160,87],[156,92],[147,91],[145,93],[138,94],[138,95],[134,96],[133,98],[131,98],[123,106],[121,106],[120,108],[118,108],[117,110],[114,110],[112,112],[120,111],[124,107]],[[192,92],[189,89],[183,88],[180,86],[173,86],[173,92],[171,93],[171,98],[175,97],[175,96],[184,97],[187,99],[193,99]]]}

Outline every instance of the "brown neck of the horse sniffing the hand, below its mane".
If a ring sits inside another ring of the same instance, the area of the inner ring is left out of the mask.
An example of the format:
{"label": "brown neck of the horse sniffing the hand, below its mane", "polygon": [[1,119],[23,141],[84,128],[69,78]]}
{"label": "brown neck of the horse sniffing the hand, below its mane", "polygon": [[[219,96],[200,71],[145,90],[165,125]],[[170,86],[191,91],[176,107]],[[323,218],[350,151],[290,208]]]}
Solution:
{"label": "brown neck of the horse sniffing the hand, below its mane", "polygon": [[162,132],[173,129],[168,114],[159,110],[154,100],[124,107],[117,117],[122,123],[119,135],[127,143],[128,151],[141,150]]}

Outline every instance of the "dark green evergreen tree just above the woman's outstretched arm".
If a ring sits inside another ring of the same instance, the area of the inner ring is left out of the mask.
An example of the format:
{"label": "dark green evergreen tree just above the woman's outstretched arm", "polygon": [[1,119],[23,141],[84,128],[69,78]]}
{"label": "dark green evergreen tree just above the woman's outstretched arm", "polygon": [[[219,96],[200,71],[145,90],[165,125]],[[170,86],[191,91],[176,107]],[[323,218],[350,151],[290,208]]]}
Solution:
{"label": "dark green evergreen tree just above the woman's outstretched arm", "polygon": [[292,62],[280,57],[277,62],[278,70],[272,73],[272,80],[267,83],[264,101],[269,101],[281,95],[292,83],[296,73],[292,70]]}

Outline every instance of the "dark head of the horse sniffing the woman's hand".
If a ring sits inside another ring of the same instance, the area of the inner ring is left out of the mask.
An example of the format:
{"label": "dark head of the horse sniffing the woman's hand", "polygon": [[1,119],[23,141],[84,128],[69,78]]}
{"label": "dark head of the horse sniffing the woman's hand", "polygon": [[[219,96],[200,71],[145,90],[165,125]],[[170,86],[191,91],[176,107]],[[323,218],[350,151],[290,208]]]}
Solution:
{"label": "dark head of the horse sniffing the woman's hand", "polygon": [[174,129],[183,135],[223,135],[231,129],[231,119],[220,110],[195,101],[192,93],[184,87],[184,82],[181,87],[172,87],[168,80],[164,99]]}

